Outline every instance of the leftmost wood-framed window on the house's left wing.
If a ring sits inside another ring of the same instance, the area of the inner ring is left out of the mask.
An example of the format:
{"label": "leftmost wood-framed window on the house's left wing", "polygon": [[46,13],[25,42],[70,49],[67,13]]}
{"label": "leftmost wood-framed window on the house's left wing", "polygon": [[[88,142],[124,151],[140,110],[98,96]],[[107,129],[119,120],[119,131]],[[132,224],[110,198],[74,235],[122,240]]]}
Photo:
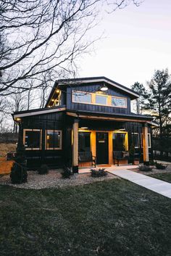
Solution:
{"label": "leftmost wood-framed window on the house's left wing", "polygon": [[38,129],[24,129],[23,144],[25,149],[39,150],[41,149],[41,130]]}

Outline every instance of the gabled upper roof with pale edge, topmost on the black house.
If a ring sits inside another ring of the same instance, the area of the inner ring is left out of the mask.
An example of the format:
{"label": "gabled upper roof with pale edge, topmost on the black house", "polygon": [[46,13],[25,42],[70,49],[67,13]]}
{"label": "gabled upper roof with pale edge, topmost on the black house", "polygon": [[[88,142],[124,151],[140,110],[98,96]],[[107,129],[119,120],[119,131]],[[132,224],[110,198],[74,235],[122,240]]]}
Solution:
{"label": "gabled upper roof with pale edge, topmost on the black house", "polygon": [[139,94],[136,91],[133,91],[132,89],[126,86],[122,86],[120,83],[114,82],[114,80],[106,78],[105,76],[97,76],[97,77],[90,77],[90,78],[59,79],[55,81],[45,107],[48,106],[49,101],[51,100],[51,97],[54,95],[54,91],[58,86],[72,86],[72,85],[78,85],[80,83],[99,83],[99,82],[108,83],[109,85],[114,86],[115,88],[118,88],[121,91],[125,91],[127,94],[130,95],[130,99],[137,99],[139,97]]}

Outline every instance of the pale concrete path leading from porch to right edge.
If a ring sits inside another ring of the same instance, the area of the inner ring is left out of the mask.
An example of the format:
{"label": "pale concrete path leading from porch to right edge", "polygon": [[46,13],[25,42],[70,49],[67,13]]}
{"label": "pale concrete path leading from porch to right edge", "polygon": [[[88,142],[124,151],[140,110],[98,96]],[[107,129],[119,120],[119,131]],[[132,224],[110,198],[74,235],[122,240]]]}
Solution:
{"label": "pale concrete path leading from porch to right edge", "polygon": [[157,178],[151,178],[141,173],[135,173],[132,170],[107,170],[120,178],[125,178],[135,184],[143,186],[146,189],[150,189],[158,194],[162,194],[165,197],[171,198],[171,183],[160,181]]}

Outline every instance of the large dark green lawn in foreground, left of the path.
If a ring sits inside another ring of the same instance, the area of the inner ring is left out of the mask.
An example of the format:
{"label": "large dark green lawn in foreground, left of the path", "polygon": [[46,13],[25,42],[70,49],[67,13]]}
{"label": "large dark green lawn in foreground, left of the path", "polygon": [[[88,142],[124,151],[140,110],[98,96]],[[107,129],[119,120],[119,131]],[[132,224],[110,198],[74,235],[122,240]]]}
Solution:
{"label": "large dark green lawn in foreground, left of the path", "polygon": [[125,180],[0,186],[1,256],[169,256],[170,199]]}

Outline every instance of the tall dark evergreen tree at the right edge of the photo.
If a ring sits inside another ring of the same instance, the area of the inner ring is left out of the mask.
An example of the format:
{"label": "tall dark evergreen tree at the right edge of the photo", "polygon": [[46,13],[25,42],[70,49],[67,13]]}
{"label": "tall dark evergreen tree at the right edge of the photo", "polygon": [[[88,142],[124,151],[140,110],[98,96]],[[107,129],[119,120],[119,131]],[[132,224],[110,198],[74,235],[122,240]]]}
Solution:
{"label": "tall dark evergreen tree at the right edge of the photo", "polygon": [[147,83],[149,97],[144,109],[150,110],[154,120],[159,123],[157,135],[161,151],[168,151],[171,124],[171,79],[168,70],[156,70],[153,78]]}

